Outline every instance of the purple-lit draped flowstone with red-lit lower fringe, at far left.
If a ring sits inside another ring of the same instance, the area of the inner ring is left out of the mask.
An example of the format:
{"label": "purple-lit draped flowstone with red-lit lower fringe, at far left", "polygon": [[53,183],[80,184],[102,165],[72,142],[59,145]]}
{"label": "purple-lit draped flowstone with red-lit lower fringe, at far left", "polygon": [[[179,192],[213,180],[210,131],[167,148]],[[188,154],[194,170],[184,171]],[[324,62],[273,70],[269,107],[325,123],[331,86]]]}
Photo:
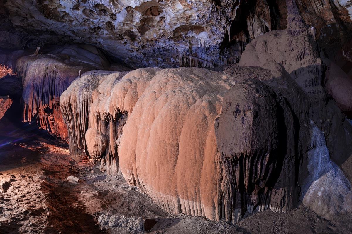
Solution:
{"label": "purple-lit draped flowstone with red-lit lower fringe, at far left", "polygon": [[31,122],[34,117],[39,128],[63,140],[68,140],[68,133],[59,108],[60,95],[81,73],[110,68],[107,58],[90,45],[37,48],[34,53],[3,50],[0,65],[22,80],[23,121]]}

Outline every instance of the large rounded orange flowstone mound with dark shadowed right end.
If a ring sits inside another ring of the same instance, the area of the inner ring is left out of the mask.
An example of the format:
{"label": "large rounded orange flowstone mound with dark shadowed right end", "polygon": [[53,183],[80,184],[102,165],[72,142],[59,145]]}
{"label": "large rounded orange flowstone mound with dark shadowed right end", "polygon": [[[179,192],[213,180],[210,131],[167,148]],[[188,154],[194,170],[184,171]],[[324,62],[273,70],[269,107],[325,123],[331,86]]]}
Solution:
{"label": "large rounded orange flowstone mound with dark shadowed right end", "polygon": [[236,75],[201,68],[84,74],[60,98],[71,155],[78,161],[85,151],[108,174],[120,170],[170,213],[236,223],[246,210],[293,209],[299,133],[269,86],[292,81],[281,71],[231,71]]}

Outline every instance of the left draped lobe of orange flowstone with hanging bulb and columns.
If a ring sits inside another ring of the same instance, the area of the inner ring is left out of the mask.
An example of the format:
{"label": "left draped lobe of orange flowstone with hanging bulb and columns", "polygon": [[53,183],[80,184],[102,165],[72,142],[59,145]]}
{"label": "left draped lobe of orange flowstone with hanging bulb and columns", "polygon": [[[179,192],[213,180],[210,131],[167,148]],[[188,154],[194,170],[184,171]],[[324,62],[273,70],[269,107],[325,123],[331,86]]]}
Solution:
{"label": "left draped lobe of orange flowstone with hanging bulb and columns", "polygon": [[[60,103],[69,130],[70,153],[76,161],[80,161],[83,151],[94,155],[97,160],[101,159],[108,143],[106,149],[109,156],[104,159],[108,163],[107,171],[118,173],[116,139],[122,134],[120,125],[125,122],[121,113],[132,111],[138,95],[142,95],[158,70],[137,69],[129,73],[93,71],[83,74],[69,86],[61,95]],[[130,87],[137,90],[130,91]],[[86,134],[88,128],[90,130]],[[87,147],[86,140],[94,140],[95,146]]]}

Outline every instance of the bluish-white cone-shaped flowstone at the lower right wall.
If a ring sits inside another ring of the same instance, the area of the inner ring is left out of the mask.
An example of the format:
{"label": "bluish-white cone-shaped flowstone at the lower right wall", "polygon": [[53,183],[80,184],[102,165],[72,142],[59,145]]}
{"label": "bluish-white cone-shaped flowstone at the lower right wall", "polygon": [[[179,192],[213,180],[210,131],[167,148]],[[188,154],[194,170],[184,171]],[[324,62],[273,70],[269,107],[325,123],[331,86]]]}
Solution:
{"label": "bluish-white cone-shaped flowstone at the lower right wall", "polygon": [[352,212],[352,186],[337,164],[330,160],[322,132],[312,127],[308,152],[308,177],[302,186],[303,204],[325,219]]}

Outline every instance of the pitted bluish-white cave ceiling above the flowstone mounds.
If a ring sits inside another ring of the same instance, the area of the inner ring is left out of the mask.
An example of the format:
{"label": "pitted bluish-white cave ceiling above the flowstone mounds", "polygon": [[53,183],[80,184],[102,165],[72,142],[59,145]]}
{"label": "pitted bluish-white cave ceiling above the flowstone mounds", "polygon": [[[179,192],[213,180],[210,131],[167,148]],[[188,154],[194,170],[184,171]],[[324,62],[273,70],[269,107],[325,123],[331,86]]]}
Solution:
{"label": "pitted bluish-white cave ceiling above the flowstone mounds", "polygon": [[[351,1],[297,4],[328,57],[345,66],[351,52]],[[17,39],[15,45],[88,43],[134,68],[238,62],[251,40],[285,29],[287,16],[284,0],[7,0],[2,5],[3,25]]]}

